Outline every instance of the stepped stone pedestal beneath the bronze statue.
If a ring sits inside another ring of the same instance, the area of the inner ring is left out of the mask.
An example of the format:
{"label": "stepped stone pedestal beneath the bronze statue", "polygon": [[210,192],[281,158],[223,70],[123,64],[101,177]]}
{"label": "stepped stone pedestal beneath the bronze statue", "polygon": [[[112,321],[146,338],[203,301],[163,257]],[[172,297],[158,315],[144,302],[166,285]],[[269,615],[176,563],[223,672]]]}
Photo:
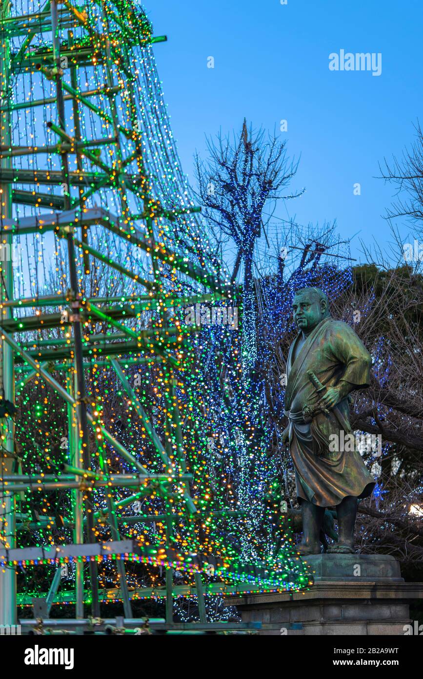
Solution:
{"label": "stepped stone pedestal beneath the bronze statue", "polygon": [[319,554],[304,561],[315,579],[308,591],[231,595],[225,604],[237,606],[243,622],[278,625],[260,634],[405,634],[409,602],[423,598],[423,583],[405,583],[393,557]]}

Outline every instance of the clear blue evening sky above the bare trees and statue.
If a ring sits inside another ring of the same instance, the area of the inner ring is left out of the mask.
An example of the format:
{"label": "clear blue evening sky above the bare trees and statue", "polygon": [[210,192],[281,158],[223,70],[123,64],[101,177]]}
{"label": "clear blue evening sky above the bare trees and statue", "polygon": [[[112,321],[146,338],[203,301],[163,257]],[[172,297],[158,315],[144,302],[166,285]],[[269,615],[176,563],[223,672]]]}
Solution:
{"label": "clear blue evening sky above the bare trees and statue", "polygon": [[[292,187],[306,187],[287,204],[289,216],[304,224],[336,218],[342,238],[360,231],[353,257],[363,259],[359,238],[391,240],[382,215],[394,187],[375,177],[423,118],[420,0],[146,0],[145,8],[155,35],[168,37],[155,55],[192,183],[206,134],[239,129],[244,117],[268,130],[287,120],[289,155],[301,156]],[[382,74],[329,71],[329,54],[341,49],[380,52]],[[406,237],[409,225],[398,225]]]}

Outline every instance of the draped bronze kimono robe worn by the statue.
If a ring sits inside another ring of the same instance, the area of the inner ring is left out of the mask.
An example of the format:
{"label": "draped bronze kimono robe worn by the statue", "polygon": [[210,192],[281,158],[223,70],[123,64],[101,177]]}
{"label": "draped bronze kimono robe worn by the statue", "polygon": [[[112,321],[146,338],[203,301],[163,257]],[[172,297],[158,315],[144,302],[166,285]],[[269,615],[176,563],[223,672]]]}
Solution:
{"label": "draped bronze kimono robe worn by the statue", "polygon": [[338,435],[335,440],[340,441],[341,429],[344,436],[352,433],[348,396],[329,414],[317,413],[310,424],[304,422],[302,409],[319,401],[308,370],[315,373],[323,386],[336,386],[342,379],[353,385],[353,389],[359,389],[369,386],[371,356],[349,325],[328,317],[308,335],[294,361],[300,335],[289,349],[285,392],[289,452],[296,471],[298,499],[319,507],[333,507],[346,496],[365,498],[374,489],[375,481],[359,451],[329,451],[329,441],[334,440],[329,439],[330,435]]}

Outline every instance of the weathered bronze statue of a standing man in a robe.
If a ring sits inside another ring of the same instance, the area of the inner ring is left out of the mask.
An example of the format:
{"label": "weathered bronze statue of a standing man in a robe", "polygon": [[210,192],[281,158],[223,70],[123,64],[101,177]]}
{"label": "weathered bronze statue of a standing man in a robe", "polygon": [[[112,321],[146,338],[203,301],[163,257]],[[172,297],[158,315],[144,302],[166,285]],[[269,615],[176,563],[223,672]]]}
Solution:
{"label": "weathered bronze statue of a standing man in a robe", "polygon": [[[338,543],[328,552],[354,553],[357,500],[374,489],[374,479],[357,449],[344,450],[351,435],[348,394],[369,386],[371,356],[352,328],[335,320],[327,296],[318,288],[295,293],[294,322],[300,331],[287,359],[285,415],[301,505],[301,555],[319,554],[326,507],[336,507]],[[335,448],[335,449],[334,449]]]}

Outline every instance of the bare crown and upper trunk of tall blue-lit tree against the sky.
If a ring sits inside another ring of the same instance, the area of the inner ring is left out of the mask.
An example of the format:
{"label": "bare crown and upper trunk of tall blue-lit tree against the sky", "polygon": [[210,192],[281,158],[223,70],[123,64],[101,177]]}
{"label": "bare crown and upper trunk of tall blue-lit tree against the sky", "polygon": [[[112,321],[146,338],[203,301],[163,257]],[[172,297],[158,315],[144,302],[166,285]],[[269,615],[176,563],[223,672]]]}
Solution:
{"label": "bare crown and upper trunk of tall blue-lit tree against the sky", "polygon": [[[209,160],[195,158],[199,198],[207,221],[235,243],[237,255],[232,280],[241,263],[246,290],[252,286],[253,253],[256,240],[266,232],[271,214],[264,207],[276,200],[297,198],[303,191],[282,195],[296,174],[298,163],[287,157],[286,143],[275,134],[266,137],[262,128],[254,133],[243,127],[239,137],[207,140]],[[304,189],[303,189],[304,190]]]}

